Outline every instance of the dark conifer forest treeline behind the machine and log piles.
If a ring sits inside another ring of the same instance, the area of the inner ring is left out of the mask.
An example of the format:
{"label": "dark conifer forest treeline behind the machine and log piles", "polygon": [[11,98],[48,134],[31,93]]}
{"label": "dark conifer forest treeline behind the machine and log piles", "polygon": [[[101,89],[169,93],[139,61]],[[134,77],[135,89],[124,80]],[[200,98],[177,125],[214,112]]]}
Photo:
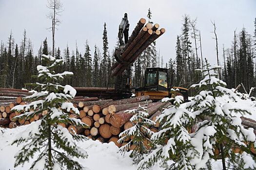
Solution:
{"label": "dark conifer forest treeline behind the machine and log piles", "polygon": [[[151,19],[148,15],[149,22]],[[222,69],[219,78],[227,83],[228,88],[235,88],[243,83],[246,90],[256,86],[256,19],[254,21],[254,35],[248,34],[243,28],[234,33],[231,39],[231,46],[225,48],[218,47],[217,34],[215,34],[217,49],[216,59],[222,58]],[[213,30],[216,33],[215,23]],[[214,34],[213,34],[214,35]],[[109,83],[114,86],[114,78],[110,76],[109,70],[115,62],[114,51],[109,51],[107,26],[104,24],[102,36],[103,49],[97,45],[89,47],[86,40],[85,52],[59,47],[54,49],[57,59],[63,59],[63,66],[58,71],[72,71],[74,76],[63,80],[63,83],[72,86],[105,87]],[[143,85],[144,70],[148,67],[168,68],[169,75],[173,75],[172,85],[189,88],[190,85],[197,83],[202,74],[197,72],[197,68],[204,68],[207,56],[202,54],[202,44],[200,31],[197,29],[197,19],[193,20],[185,15],[182,19],[181,34],[177,35],[176,56],[163,63],[163,56],[160,57],[156,50],[156,43],[152,43],[143,51],[138,60],[132,66],[133,87]],[[116,48],[118,47],[118,42]],[[15,43],[12,32],[7,41],[1,40],[0,44],[0,87],[7,88],[28,88],[31,86],[26,83],[35,83],[31,75],[37,74],[37,66],[44,65],[41,60],[42,54],[51,54],[52,49],[48,46],[47,38],[43,40],[38,51],[33,49],[33,43],[27,37],[26,30],[20,44]],[[169,77],[171,80],[171,77]],[[241,89],[242,90],[242,89]]]}

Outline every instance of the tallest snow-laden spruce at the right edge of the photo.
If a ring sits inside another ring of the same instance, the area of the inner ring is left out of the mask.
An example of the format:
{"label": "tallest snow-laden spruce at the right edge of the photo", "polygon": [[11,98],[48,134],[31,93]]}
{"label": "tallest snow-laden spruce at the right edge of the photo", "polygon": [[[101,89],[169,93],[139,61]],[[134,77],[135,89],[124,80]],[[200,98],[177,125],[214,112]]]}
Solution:
{"label": "tallest snow-laden spruce at the right edge of the photo", "polygon": [[[240,119],[241,115],[250,114],[250,110],[219,102],[219,97],[224,94],[236,101],[236,94],[225,88],[226,83],[217,78],[217,69],[220,67],[211,67],[206,60],[206,69],[200,70],[204,72],[204,79],[191,86],[199,90],[199,94],[187,103],[187,108],[197,120],[197,130],[191,134],[191,143],[199,157],[191,162],[196,169],[211,169],[211,161],[221,158],[223,170],[233,167],[255,169],[256,158],[250,151],[251,146],[256,146],[254,130],[245,129]],[[236,153],[236,150],[240,152]]]}

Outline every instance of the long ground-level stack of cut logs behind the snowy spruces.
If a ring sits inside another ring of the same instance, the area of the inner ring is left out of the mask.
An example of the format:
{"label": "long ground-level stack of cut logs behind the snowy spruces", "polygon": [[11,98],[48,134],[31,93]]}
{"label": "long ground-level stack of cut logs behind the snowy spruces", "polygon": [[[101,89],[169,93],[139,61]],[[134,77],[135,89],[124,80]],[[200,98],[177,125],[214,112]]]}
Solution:
{"label": "long ground-level stack of cut logs behind the snowy spruces", "polygon": [[[30,93],[27,90],[0,88],[0,127],[15,128],[17,126],[30,124],[47,114],[48,111],[45,110],[38,116],[34,116],[31,119],[13,120],[13,118],[19,114],[17,112],[11,113],[11,108],[18,104],[26,104],[26,102],[22,102],[22,98],[31,94],[33,93]],[[130,140],[127,139],[123,144],[118,143],[119,134],[134,126],[134,123],[129,121],[133,114],[125,112],[126,110],[136,109],[138,108],[138,105],[143,105],[147,102],[148,118],[155,121],[157,116],[161,114],[162,109],[171,105],[170,102],[153,103],[149,100],[149,96],[139,96],[118,101],[113,101],[111,99],[98,100],[98,98],[95,97],[75,97],[71,102],[79,109],[79,115],[74,114],[71,110],[69,116],[81,119],[81,121],[89,125],[90,128],[77,128],[71,124],[60,125],[66,127],[71,133],[76,132],[77,134],[85,135],[93,140],[99,140],[100,142],[113,141],[118,147],[125,145],[126,142]],[[246,128],[254,128],[256,134],[256,121],[245,117],[241,117],[241,119],[242,125]],[[158,127],[159,122],[156,122],[155,126],[149,128],[153,132],[158,132]],[[189,133],[193,133],[196,129],[196,126],[192,126],[188,131]],[[145,145],[147,145],[146,141]],[[134,148],[135,146],[132,145],[131,149]]]}

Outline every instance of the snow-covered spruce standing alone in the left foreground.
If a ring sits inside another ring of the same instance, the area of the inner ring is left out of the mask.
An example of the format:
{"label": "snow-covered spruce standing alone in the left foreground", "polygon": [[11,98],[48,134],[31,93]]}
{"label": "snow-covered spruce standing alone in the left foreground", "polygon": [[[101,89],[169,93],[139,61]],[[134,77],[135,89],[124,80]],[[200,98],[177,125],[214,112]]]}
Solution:
{"label": "snow-covered spruce standing alone in the left foreground", "polygon": [[79,162],[73,157],[85,158],[86,151],[77,146],[77,141],[87,139],[84,136],[71,134],[59,123],[73,124],[76,127],[88,127],[79,119],[69,118],[70,111],[79,114],[79,110],[71,102],[76,90],[70,86],[62,86],[57,83],[72,72],[64,71],[55,73],[54,68],[60,66],[63,60],[55,59],[51,55],[42,55],[43,63],[47,66],[37,66],[38,78],[43,83],[36,83],[37,93],[25,97],[29,104],[17,105],[12,111],[24,112],[15,119],[30,119],[35,115],[41,115],[44,110],[48,113],[36,122],[27,126],[25,131],[12,144],[25,143],[22,149],[16,153],[15,167],[29,162],[34,155],[38,155],[31,165],[31,170],[81,170]]}

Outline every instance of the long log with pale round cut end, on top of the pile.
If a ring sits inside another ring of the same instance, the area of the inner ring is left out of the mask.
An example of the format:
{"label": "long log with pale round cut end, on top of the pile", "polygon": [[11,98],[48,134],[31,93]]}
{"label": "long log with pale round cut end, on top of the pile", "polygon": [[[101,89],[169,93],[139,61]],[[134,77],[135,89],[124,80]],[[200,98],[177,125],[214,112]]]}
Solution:
{"label": "long log with pale round cut end, on top of the pile", "polygon": [[152,100],[149,100],[146,102],[134,102],[134,103],[127,103],[127,104],[110,105],[108,106],[108,112],[113,114],[121,110],[127,110],[132,107],[138,107],[138,105],[144,105],[146,103],[152,103]]}

